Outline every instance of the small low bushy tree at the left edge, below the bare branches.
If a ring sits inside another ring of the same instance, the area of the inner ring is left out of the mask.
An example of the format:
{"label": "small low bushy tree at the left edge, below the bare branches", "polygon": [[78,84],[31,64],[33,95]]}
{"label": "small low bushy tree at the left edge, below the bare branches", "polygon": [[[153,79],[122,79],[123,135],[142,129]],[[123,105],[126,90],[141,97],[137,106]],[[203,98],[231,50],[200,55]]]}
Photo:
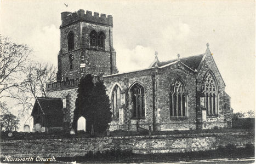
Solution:
{"label": "small low bushy tree at the left edge, below the bare branches", "polygon": [[19,130],[19,119],[12,113],[0,115],[1,131],[17,131]]}

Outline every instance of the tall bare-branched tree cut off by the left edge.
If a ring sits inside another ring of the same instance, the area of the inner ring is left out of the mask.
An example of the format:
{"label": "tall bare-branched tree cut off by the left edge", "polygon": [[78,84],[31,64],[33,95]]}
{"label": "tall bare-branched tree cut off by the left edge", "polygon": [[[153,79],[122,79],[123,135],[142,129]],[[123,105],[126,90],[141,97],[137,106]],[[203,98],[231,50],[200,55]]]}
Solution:
{"label": "tall bare-branched tree cut off by the left edge", "polygon": [[21,89],[24,83],[21,74],[31,52],[28,46],[13,43],[0,34],[0,101],[10,96],[10,89]]}

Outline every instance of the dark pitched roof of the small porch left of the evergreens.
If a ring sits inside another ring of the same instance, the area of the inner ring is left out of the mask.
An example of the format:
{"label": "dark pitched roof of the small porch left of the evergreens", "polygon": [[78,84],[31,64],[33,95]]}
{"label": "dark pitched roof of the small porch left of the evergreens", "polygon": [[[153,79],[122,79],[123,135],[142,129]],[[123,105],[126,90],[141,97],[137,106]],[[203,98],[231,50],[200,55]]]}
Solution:
{"label": "dark pitched roof of the small porch left of the evergreens", "polygon": [[[44,112],[44,114],[59,114],[62,113],[63,103],[61,98],[52,98],[52,97],[37,97],[38,102]],[[31,115],[36,112],[36,109],[40,109],[36,100]]]}

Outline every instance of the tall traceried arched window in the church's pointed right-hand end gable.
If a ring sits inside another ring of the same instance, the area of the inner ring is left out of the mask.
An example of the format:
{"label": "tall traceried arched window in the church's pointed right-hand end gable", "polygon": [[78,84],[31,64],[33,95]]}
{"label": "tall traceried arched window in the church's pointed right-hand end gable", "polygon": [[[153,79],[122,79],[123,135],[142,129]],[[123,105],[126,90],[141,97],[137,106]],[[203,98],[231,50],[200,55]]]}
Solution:
{"label": "tall traceried arched window in the church's pointed right-hand end gable", "polygon": [[211,72],[207,72],[202,83],[202,93],[204,94],[204,102],[206,104],[207,114],[218,114],[218,92],[217,85]]}

